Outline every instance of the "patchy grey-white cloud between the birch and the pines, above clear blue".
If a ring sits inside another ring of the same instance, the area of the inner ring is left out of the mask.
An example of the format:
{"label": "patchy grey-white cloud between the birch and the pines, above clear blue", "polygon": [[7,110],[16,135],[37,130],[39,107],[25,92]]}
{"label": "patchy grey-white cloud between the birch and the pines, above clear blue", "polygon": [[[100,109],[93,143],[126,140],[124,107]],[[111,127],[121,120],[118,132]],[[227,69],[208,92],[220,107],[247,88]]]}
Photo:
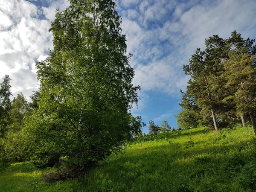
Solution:
{"label": "patchy grey-white cloud between the birch and the pines, above clear blue", "polygon": [[[128,51],[134,54],[134,84],[140,84],[144,91],[179,96],[189,80],[183,64],[188,63],[197,47],[204,46],[205,38],[213,34],[228,38],[234,30],[245,38],[256,37],[255,9],[254,0],[144,0],[136,9],[122,12]],[[128,15],[134,10],[140,13],[137,20]],[[167,17],[169,12],[171,16]],[[155,25],[151,20],[160,22]]]}

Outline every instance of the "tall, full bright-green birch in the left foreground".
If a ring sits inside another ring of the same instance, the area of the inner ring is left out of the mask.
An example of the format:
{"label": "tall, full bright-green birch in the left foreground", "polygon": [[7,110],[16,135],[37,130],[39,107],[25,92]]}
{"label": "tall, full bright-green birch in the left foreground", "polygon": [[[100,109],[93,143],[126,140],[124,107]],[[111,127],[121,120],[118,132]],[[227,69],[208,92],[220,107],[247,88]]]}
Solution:
{"label": "tall, full bright-green birch in the left foreground", "polygon": [[[26,128],[44,164],[67,157],[79,176],[131,137],[137,103],[121,18],[112,0],[70,0],[49,29],[54,49],[37,62],[38,108]],[[37,99],[36,99],[37,100]]]}

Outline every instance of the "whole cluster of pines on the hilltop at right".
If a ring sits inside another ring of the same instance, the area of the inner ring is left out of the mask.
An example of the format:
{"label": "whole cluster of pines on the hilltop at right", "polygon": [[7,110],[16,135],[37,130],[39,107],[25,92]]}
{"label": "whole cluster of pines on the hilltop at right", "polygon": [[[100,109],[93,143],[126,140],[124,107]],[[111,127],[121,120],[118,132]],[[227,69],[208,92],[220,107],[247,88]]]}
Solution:
{"label": "whole cluster of pines on the hilltop at right", "polygon": [[[191,79],[182,90],[180,128],[207,125],[215,128],[246,122],[256,134],[256,44],[236,31],[227,39],[213,35],[205,49],[196,49],[183,65]],[[239,120],[240,119],[240,120]]]}

